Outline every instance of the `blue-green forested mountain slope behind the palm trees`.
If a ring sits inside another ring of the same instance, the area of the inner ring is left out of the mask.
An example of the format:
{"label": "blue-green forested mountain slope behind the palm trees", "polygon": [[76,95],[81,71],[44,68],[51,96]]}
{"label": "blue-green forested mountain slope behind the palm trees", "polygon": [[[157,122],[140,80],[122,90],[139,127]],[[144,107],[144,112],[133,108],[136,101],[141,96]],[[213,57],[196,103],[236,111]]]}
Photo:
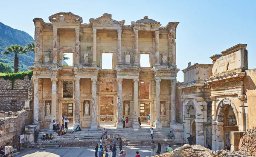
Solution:
{"label": "blue-green forested mountain slope behind the palm trees", "polygon": [[[14,71],[14,54],[6,55],[1,52],[5,51],[5,48],[12,44],[26,46],[26,43],[30,43],[32,41],[34,41],[34,39],[25,31],[13,29],[12,27],[6,26],[0,22],[0,62],[11,66]],[[34,56],[35,54],[33,52],[18,55],[19,72],[29,71],[29,66],[33,66],[34,64]]]}

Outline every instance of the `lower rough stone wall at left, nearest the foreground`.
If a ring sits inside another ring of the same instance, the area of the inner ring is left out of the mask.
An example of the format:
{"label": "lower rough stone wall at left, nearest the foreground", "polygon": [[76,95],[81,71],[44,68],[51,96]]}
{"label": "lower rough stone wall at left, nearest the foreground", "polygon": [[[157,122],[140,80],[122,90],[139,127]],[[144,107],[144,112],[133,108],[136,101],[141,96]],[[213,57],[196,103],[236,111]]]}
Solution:
{"label": "lower rough stone wall at left, nearest the foreground", "polygon": [[[0,146],[19,146],[20,135],[26,125],[33,121],[33,111],[21,110],[17,112],[0,111]],[[26,139],[24,139],[25,141]]]}

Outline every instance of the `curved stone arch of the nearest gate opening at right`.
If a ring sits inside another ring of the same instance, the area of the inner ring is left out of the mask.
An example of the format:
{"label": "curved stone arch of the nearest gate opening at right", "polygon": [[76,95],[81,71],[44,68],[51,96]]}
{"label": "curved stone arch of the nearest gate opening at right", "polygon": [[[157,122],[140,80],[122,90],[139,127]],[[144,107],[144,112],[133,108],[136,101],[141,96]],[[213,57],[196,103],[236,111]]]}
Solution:
{"label": "curved stone arch of the nearest gate opening at right", "polygon": [[226,110],[226,108],[228,106],[231,106],[233,108],[235,117],[236,117],[236,122],[238,123],[238,112],[236,110],[236,106],[234,105],[234,103],[230,100],[230,99],[223,99],[221,100],[221,102],[218,104],[217,107],[217,111],[216,111],[216,116],[215,116],[215,120],[218,122],[222,122],[224,120],[224,111]]}

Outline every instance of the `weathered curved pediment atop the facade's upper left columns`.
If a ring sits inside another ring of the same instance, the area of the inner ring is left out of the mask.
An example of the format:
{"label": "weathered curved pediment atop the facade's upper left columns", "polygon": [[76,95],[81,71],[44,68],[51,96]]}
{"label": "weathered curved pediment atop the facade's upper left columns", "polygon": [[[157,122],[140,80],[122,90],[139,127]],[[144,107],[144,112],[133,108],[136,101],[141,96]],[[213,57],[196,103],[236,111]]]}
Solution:
{"label": "weathered curved pediment atop the facade's upper left columns", "polygon": [[72,12],[59,12],[49,16],[50,22],[64,22],[64,23],[82,23],[82,17],[73,14]]}

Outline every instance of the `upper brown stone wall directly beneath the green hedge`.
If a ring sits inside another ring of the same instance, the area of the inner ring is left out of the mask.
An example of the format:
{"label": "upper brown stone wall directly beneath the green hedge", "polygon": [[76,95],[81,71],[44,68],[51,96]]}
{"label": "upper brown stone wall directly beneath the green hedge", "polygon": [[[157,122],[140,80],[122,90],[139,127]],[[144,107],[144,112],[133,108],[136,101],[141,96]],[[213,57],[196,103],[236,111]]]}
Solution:
{"label": "upper brown stone wall directly beneath the green hedge", "polygon": [[0,110],[1,111],[20,111],[28,99],[28,89],[30,84],[29,77],[24,80],[15,80],[12,88],[11,80],[0,78]]}

